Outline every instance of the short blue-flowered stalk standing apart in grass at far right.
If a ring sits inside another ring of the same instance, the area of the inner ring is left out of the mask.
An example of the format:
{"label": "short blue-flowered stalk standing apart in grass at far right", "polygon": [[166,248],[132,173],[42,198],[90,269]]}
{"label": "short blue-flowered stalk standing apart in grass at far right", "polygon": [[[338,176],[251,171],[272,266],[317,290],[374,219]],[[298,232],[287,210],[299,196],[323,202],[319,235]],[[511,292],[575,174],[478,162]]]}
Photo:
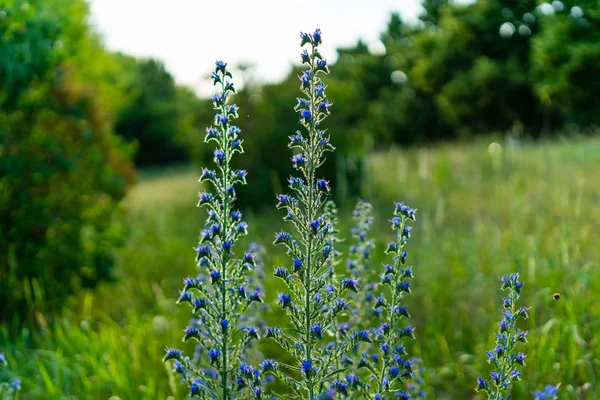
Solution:
{"label": "short blue-flowered stalk standing apart in grass at far right", "polygon": [[[509,277],[500,278],[502,291],[507,296],[502,298],[504,310],[502,321],[496,334],[496,346],[486,352],[488,362],[493,365],[494,371],[490,373],[490,380],[477,378],[476,391],[484,391],[488,399],[504,399],[505,392],[510,390],[513,382],[520,380],[520,367],[525,365],[525,354],[515,352],[518,343],[527,343],[527,331],[520,331],[517,327],[519,319],[527,319],[527,307],[517,307],[517,300],[521,295],[523,282],[519,281],[519,274],[514,273]],[[508,397],[510,398],[510,396]]]}

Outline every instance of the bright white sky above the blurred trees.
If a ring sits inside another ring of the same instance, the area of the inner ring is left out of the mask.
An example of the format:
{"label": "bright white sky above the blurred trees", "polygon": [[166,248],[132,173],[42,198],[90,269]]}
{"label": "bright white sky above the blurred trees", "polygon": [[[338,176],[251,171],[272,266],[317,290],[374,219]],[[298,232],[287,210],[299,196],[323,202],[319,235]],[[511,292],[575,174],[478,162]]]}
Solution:
{"label": "bright white sky above the blurred trees", "polygon": [[262,80],[283,78],[299,58],[299,32],[323,31],[321,54],[360,37],[376,45],[392,11],[405,21],[420,0],[88,0],[107,47],[165,62],[179,83],[207,89],[214,61],[250,62]]}

